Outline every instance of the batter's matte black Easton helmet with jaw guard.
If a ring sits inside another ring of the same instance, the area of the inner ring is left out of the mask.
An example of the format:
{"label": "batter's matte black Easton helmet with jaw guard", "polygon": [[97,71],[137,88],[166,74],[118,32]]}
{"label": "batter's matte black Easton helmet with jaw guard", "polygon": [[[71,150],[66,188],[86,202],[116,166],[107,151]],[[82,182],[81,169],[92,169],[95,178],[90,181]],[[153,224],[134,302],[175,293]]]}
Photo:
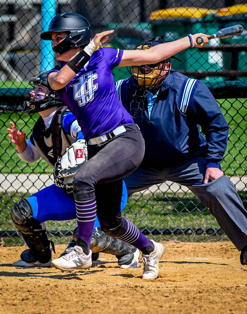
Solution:
{"label": "batter's matte black Easton helmet with jaw guard", "polygon": [[[73,48],[86,46],[91,40],[91,26],[88,20],[76,13],[61,13],[56,15],[50,22],[47,32],[40,35],[43,40],[52,40],[52,32],[66,32],[68,37],[53,47],[53,51],[58,55],[63,54]],[[78,38],[73,41],[74,38]]]}

